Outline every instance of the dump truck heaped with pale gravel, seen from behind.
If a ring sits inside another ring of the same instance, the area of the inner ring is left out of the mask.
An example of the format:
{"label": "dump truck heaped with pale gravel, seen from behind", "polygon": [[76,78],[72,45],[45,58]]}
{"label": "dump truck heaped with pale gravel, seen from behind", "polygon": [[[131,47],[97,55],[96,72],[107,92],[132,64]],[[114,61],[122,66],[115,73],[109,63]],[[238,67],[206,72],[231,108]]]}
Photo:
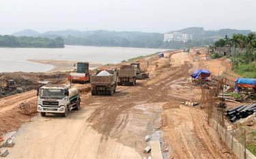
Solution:
{"label": "dump truck heaped with pale gravel, seen from behind", "polygon": [[105,94],[112,96],[117,88],[117,70],[97,70],[91,76],[91,95]]}

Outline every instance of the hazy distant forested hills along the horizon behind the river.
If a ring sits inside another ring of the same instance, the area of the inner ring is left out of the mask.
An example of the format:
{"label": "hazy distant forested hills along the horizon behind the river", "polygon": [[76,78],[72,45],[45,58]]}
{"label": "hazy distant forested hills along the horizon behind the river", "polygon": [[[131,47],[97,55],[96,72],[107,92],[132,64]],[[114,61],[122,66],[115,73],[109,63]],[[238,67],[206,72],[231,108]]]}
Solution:
{"label": "hazy distant forested hills along the horizon behind the river", "polygon": [[251,33],[250,30],[236,29],[220,29],[215,31],[207,31],[202,27],[189,27],[177,31],[190,33],[193,40],[188,42],[163,42],[164,33],[144,33],[141,31],[47,31],[39,33],[33,30],[23,30],[14,33],[15,36],[31,36],[44,38],[63,38],[67,45],[85,45],[85,46],[121,46],[121,47],[138,47],[138,48],[189,48],[193,46],[208,46],[214,41],[225,38],[225,35],[233,35],[233,33],[242,33],[244,35]]}

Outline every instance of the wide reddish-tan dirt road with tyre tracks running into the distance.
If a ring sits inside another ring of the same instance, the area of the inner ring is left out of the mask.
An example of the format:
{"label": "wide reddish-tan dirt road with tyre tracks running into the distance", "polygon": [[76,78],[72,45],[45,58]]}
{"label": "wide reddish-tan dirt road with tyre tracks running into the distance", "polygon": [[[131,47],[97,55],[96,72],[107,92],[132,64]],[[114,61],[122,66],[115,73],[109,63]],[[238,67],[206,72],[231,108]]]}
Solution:
{"label": "wide reddish-tan dirt road with tyre tracks running into the distance", "polygon": [[141,159],[144,137],[156,131],[164,132],[165,158],[232,158],[203,110],[180,105],[201,98],[188,78],[200,62],[183,52],[147,61],[151,78],[136,87],[118,87],[111,97],[83,93],[83,109],[66,118],[33,117],[8,158]]}

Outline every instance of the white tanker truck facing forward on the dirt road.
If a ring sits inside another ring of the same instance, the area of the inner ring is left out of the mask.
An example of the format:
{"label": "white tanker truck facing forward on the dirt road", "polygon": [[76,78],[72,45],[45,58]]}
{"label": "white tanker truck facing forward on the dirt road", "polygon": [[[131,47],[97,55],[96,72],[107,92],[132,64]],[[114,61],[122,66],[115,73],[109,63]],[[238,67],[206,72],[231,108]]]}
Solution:
{"label": "white tanker truck facing forward on the dirt road", "polygon": [[80,91],[68,85],[44,85],[38,89],[38,112],[44,117],[46,113],[61,113],[80,109]]}

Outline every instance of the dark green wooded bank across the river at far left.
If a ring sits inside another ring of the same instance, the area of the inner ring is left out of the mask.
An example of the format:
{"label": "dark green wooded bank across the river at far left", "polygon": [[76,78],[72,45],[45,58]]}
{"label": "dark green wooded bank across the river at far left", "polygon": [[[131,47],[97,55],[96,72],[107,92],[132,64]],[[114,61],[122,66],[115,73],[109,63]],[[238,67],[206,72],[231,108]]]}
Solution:
{"label": "dark green wooded bank across the river at far left", "polygon": [[62,38],[41,38],[41,37],[15,37],[13,35],[0,35],[0,47],[11,48],[63,48]]}

